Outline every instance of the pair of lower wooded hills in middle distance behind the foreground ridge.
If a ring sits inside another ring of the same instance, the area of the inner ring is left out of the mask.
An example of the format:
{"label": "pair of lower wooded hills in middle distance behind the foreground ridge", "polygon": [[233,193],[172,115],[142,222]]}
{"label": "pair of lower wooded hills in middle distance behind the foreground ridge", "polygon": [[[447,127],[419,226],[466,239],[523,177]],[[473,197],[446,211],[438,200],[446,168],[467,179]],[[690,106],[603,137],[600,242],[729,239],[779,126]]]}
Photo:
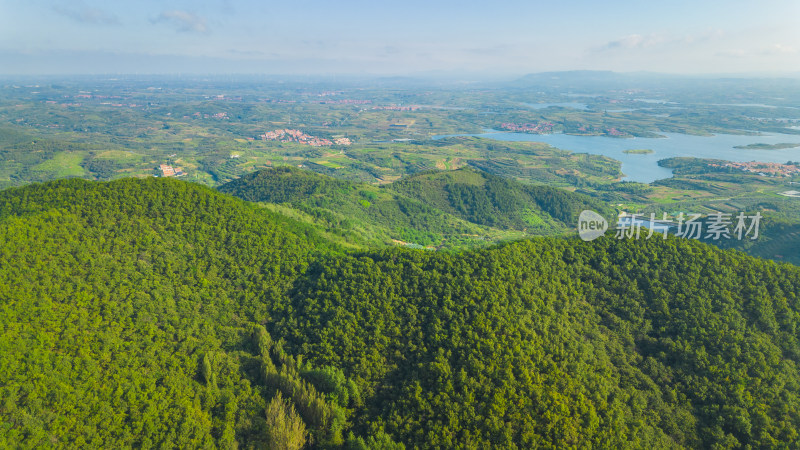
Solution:
{"label": "pair of lower wooded hills in middle distance behind the foreground ridge", "polygon": [[458,247],[509,233],[563,234],[583,209],[608,209],[585,195],[470,168],[424,172],[378,188],[278,167],[247,174],[219,190],[248,201],[290,205],[328,231],[368,244],[398,239]]}

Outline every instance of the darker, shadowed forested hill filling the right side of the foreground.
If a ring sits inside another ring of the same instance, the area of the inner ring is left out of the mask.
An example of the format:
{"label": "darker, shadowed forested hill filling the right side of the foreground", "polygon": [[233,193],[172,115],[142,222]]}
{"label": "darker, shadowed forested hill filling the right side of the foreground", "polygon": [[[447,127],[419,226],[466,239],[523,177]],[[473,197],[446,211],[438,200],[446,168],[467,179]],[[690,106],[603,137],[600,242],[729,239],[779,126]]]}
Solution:
{"label": "darker, shadowed forested hill filling the right side of the foreground", "polygon": [[309,272],[276,333],[365,386],[363,429],[438,448],[800,443],[793,266],[691,241],[538,239]]}

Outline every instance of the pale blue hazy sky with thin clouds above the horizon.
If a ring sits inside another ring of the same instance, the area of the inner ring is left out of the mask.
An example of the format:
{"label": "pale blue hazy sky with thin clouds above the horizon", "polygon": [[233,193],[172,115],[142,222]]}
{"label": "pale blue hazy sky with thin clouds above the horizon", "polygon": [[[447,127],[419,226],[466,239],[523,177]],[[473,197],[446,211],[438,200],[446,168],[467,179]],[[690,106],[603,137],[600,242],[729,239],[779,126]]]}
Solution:
{"label": "pale blue hazy sky with thin clouds above the horizon", "polygon": [[0,0],[0,74],[800,74],[799,0]]}

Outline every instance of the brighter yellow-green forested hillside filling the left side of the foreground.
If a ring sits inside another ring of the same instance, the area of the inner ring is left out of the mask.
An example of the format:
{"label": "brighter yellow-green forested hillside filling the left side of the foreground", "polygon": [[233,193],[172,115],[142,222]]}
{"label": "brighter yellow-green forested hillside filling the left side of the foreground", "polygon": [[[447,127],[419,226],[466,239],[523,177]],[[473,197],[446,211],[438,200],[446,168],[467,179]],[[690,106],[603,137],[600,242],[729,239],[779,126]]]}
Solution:
{"label": "brighter yellow-green forested hillside filling the left side of the foreground", "polygon": [[266,445],[248,342],[307,232],[171,180],[3,191],[0,447]]}

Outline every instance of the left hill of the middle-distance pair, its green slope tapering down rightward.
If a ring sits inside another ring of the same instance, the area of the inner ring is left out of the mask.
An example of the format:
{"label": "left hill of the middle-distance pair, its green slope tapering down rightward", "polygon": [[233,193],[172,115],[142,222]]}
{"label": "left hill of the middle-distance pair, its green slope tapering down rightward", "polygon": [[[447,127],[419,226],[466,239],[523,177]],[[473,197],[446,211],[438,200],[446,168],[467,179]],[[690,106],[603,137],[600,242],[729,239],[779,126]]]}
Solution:
{"label": "left hill of the middle-distance pair, its green slope tapering down rightward", "polygon": [[487,242],[521,236],[470,223],[391,190],[294,167],[253,172],[219,190],[248,201],[288,205],[296,211],[278,210],[295,214],[300,220],[307,218],[340,239],[362,247],[392,240],[451,248],[485,246]]}

